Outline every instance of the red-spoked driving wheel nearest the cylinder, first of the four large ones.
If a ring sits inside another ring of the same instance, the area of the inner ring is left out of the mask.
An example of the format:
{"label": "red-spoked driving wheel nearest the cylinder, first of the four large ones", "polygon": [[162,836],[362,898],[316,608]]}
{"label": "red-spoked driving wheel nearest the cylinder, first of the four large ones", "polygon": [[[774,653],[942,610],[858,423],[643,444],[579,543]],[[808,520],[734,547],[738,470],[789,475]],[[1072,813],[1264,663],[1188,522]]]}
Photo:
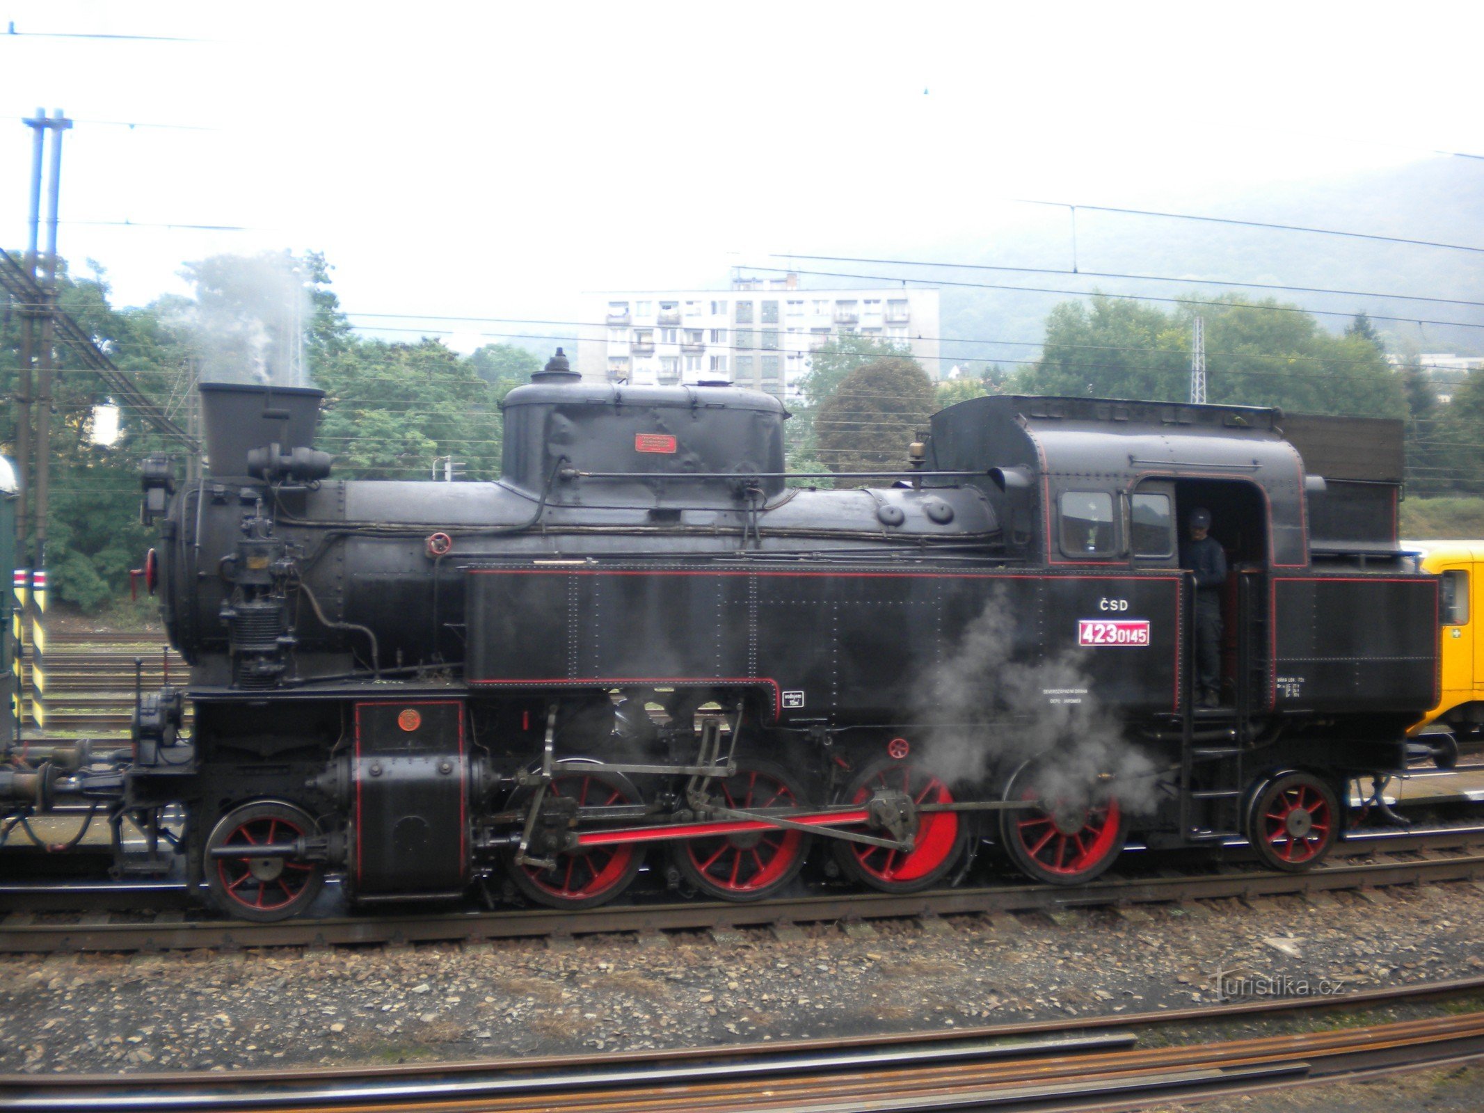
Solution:
{"label": "red-spoked driving wheel nearest the cylinder, first of the four large ones", "polygon": [[[567,761],[571,772],[558,772],[546,788],[548,795],[576,800],[577,807],[619,807],[640,804],[640,792],[628,778],[617,773],[585,770],[582,763]],[[512,801],[521,807],[528,794]],[[579,824],[582,816],[579,812]],[[622,893],[644,864],[644,849],[634,843],[613,843],[585,847],[552,858],[555,865],[515,862],[508,856],[510,880],[533,901],[552,908],[592,908]]]}

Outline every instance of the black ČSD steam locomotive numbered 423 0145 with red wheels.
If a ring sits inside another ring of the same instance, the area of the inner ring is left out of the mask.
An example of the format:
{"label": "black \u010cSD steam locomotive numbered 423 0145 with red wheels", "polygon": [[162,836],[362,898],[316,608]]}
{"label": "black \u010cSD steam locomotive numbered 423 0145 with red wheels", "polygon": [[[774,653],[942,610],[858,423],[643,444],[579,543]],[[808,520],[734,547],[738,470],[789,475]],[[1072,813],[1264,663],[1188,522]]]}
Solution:
{"label": "black \u010cSD steam locomotive numbered 423 0145 with red wheels", "polygon": [[[119,769],[0,784],[151,830],[183,809],[190,879],[240,917],[326,874],[582,908],[646,861],[749,901],[812,850],[911,892],[984,843],[1074,884],[1131,830],[1303,870],[1437,700],[1385,423],[978,398],[901,472],[816,490],[776,398],[558,353],[505,402],[499,482],[372,482],[331,478],[319,404],[202,387],[209,475],[144,476],[188,689],[141,699]],[[1230,568],[1217,708],[1192,697],[1196,506]]]}

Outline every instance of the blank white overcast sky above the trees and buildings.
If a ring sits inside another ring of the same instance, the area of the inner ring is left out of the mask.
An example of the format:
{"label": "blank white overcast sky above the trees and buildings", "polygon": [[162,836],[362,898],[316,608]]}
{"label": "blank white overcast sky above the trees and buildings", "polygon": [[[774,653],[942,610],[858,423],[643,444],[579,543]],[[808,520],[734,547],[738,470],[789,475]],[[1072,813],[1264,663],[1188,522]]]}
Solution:
{"label": "blank white overcast sky above the trees and buildings", "polygon": [[123,304],[184,292],[184,260],[280,246],[324,251],[347,310],[549,319],[585,289],[788,251],[951,258],[1006,227],[1064,266],[1064,214],[1009,199],[1261,218],[1239,211],[1267,184],[1484,153],[1480,4],[0,12],[0,243],[25,243],[19,120],[64,108],[61,254]]}

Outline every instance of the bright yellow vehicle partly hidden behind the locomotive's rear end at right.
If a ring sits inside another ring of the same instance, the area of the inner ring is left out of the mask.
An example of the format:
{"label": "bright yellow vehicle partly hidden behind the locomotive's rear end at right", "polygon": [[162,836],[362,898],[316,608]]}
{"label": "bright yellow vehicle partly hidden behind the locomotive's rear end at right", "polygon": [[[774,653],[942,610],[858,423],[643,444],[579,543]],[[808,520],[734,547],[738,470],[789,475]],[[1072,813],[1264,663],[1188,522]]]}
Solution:
{"label": "bright yellow vehicle partly hidden behind the locomotive's rear end at right", "polygon": [[1442,577],[1438,597],[1441,671],[1438,706],[1407,733],[1439,766],[1457,760],[1459,743],[1484,742],[1484,540],[1402,542],[1423,571]]}

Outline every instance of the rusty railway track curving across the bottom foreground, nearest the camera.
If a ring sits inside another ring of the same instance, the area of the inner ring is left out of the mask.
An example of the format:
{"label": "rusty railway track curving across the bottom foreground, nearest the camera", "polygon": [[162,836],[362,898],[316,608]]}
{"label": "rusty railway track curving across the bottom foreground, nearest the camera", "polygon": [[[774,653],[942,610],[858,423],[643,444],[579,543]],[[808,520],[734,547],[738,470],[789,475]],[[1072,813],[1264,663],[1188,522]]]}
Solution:
{"label": "rusty railway track curving across the bottom foreground, nearest the camera", "polygon": [[[1221,1006],[1218,1022],[1469,1000],[1484,978]],[[1362,1014],[1362,1018],[1364,1014]],[[0,1076],[0,1110],[907,1110],[1134,1107],[1484,1055],[1484,1012],[1212,1040],[1212,1009],[956,1033],[310,1071]],[[1140,1046],[1155,1031],[1163,1046]]]}

